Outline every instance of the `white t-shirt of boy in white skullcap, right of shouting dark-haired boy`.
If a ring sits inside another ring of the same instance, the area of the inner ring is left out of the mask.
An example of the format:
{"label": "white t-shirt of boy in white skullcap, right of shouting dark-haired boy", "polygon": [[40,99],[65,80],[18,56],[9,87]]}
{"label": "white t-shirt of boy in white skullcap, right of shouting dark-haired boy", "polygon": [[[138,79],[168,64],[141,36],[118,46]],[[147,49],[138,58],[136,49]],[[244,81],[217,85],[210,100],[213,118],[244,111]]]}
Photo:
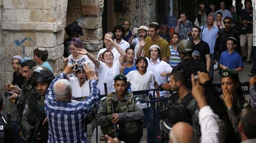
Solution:
{"label": "white t-shirt of boy in white skullcap, right of shouting dark-haired boy", "polygon": [[[148,71],[152,71],[154,76],[156,77],[157,84],[160,85],[162,83],[167,83],[168,82],[168,77],[161,77],[161,73],[164,73],[166,71],[172,71],[172,67],[166,63],[165,61],[161,60],[158,58],[156,63],[153,63],[151,59],[146,58],[147,62],[149,63],[149,66],[147,67]],[[151,88],[154,88],[154,84],[150,84]],[[169,91],[160,91],[160,97],[169,94]]]}

